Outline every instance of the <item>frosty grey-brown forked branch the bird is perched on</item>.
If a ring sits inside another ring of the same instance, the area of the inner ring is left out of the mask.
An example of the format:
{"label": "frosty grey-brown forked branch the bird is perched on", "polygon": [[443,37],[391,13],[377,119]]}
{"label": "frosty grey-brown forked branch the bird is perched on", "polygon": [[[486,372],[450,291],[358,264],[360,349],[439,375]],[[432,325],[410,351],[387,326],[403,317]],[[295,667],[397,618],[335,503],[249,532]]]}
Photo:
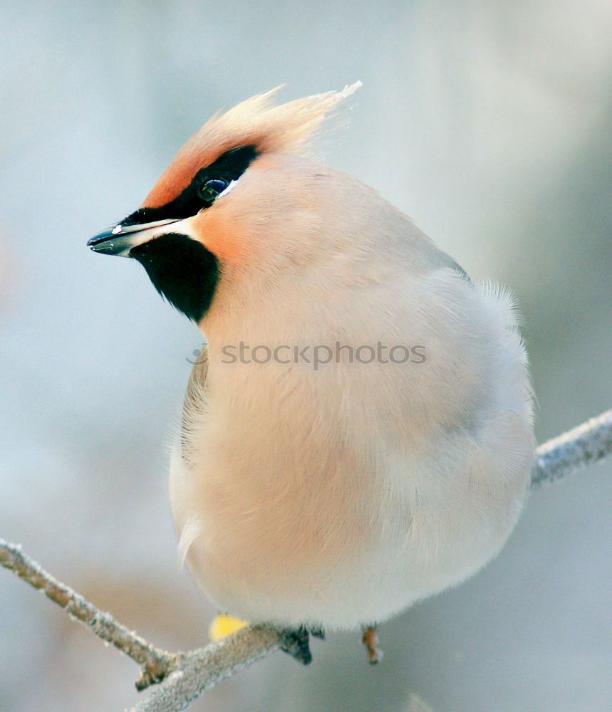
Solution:
{"label": "frosty grey-brown forked branch the bird is perched on", "polygon": [[[531,488],[554,482],[612,454],[612,410],[556,437],[536,451]],[[183,710],[207,689],[281,646],[268,626],[247,626],[220,642],[189,652],[157,648],[100,611],[26,556],[21,547],[0,539],[0,564],[61,606],[95,635],[112,643],[140,665],[136,689],[160,683],[133,712]]]}

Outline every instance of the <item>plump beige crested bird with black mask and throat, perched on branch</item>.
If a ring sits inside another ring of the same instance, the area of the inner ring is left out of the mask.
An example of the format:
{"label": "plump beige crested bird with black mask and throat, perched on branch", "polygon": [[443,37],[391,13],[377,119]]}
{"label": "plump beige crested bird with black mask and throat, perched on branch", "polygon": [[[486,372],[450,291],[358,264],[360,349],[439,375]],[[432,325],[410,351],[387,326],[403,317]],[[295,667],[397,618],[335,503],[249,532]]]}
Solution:
{"label": "plump beige crested bird with black mask and throat, perched on branch", "polygon": [[360,85],[215,114],[88,242],[204,335],[170,457],[180,560],[304,664],[341,629],[378,661],[380,622],[499,553],[534,461],[513,295],[313,152]]}

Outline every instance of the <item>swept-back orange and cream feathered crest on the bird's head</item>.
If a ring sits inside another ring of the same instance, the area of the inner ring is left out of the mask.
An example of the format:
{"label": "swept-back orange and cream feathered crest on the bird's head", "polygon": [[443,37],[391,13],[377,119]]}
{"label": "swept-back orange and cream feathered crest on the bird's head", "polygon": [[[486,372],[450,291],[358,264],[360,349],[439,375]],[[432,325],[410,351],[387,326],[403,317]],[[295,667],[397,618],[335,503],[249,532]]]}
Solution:
{"label": "swept-back orange and cream feathered crest on the bird's head", "polygon": [[314,94],[275,105],[272,97],[281,87],[217,113],[185,143],[147,195],[142,206],[165,205],[184,189],[204,166],[224,152],[254,145],[260,153],[304,155],[308,143],[336,106],[361,87],[361,82],[341,91]]}

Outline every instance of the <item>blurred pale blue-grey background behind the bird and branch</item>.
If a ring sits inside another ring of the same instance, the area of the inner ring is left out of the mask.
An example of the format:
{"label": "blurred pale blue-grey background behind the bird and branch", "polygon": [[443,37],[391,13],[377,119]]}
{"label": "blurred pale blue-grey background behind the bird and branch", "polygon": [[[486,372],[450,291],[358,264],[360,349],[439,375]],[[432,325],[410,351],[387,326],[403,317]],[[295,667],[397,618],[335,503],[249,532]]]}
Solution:
{"label": "blurred pale blue-grey background behind the bird and branch", "polygon": [[[361,79],[326,161],[474,278],[511,288],[539,441],[612,407],[609,0],[98,1],[0,9],[0,536],[151,642],[207,641],[176,566],[167,444],[202,339],[87,239],[133,211],[209,115]],[[276,654],[195,710],[612,710],[612,464],[532,496],[467,584]],[[105,711],[137,666],[0,570],[0,708]]]}

